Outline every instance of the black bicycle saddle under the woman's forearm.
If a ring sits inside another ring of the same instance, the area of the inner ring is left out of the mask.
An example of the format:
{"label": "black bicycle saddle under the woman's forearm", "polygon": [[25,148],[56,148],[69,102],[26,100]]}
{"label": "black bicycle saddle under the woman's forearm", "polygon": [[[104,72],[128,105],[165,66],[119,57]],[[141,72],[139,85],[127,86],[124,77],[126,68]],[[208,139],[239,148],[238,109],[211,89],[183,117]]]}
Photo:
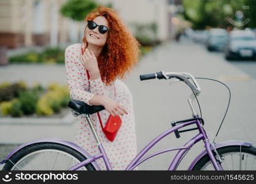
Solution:
{"label": "black bicycle saddle under the woman's forearm", "polygon": [[76,101],[73,99],[69,101],[68,107],[70,107],[72,110],[75,110],[78,113],[87,114],[96,113],[105,109],[103,105],[88,105],[85,102]]}

